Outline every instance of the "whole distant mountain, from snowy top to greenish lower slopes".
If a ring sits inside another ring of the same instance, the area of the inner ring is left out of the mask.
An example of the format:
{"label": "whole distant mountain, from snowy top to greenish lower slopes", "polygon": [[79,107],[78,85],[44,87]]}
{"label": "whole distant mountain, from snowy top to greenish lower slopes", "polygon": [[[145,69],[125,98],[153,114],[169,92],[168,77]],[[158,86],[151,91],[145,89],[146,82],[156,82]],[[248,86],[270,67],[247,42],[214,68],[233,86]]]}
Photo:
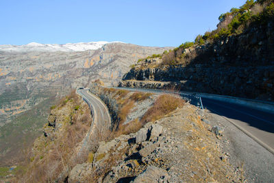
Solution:
{"label": "whole distant mountain, from snowy top to greenish lower slopes", "polygon": [[105,43],[0,47],[1,163],[13,145],[34,140],[56,98],[98,78],[105,85],[116,84],[139,58],[169,49]]}

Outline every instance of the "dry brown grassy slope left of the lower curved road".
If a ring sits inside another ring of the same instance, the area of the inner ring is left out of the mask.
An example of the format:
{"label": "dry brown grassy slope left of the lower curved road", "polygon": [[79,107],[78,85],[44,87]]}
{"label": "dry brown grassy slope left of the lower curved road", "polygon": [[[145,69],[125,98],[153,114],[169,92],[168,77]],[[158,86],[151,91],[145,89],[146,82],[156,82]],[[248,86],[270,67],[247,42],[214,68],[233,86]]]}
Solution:
{"label": "dry brown grassy slope left of the lower curved road", "polygon": [[40,136],[36,140],[27,163],[28,170],[18,177],[18,182],[53,182],[62,171],[69,171],[77,163],[88,160],[88,153],[81,160],[73,158],[75,147],[88,132],[92,120],[88,105],[81,104],[81,101],[75,91],[60,100],[55,110],[69,108],[71,114],[64,117],[62,130],[58,134],[52,132],[53,136]]}

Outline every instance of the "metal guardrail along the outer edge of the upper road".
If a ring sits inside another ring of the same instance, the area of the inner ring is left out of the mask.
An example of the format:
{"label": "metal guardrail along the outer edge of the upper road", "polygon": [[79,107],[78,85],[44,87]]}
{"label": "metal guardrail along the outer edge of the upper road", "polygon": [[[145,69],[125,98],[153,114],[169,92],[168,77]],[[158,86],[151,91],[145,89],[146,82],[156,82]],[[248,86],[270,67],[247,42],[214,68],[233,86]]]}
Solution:
{"label": "metal guardrail along the outer edge of the upper road", "polygon": [[172,95],[173,97],[179,97],[181,99],[184,99],[185,101],[188,101],[190,104],[203,109],[203,102],[201,101],[201,97],[197,95],[193,95],[191,93],[182,93],[175,90],[160,90],[160,89],[149,89],[149,88],[125,88],[125,87],[110,87],[110,88],[132,90],[132,91],[139,90],[142,92],[155,93],[160,95],[162,94]]}

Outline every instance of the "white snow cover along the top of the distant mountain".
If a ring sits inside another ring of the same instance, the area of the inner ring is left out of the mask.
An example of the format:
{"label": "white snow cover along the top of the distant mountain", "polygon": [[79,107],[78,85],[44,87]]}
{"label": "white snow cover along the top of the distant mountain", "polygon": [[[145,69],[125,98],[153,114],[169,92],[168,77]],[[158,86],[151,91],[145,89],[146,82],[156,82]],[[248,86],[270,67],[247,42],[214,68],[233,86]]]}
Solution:
{"label": "white snow cover along the top of the distant mountain", "polygon": [[86,51],[90,49],[99,49],[103,45],[111,42],[98,41],[98,42],[78,42],[78,43],[67,43],[64,45],[58,44],[40,44],[37,42],[30,42],[27,45],[0,45],[0,51],[9,52],[28,52],[28,51]]}

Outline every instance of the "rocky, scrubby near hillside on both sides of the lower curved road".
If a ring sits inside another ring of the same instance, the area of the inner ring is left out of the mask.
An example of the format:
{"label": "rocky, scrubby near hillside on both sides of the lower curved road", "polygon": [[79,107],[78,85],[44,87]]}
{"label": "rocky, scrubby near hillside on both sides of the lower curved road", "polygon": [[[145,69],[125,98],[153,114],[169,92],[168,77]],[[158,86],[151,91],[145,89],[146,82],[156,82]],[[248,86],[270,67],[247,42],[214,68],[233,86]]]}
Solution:
{"label": "rocky, scrubby near hillside on both sides of the lower curved road", "polygon": [[[51,110],[44,134],[36,139],[25,165],[27,171],[18,174],[21,182],[245,181],[242,167],[231,164],[223,149],[223,128],[210,125],[207,113],[184,101],[179,101],[181,104],[174,110],[166,106],[161,109],[161,105],[173,106],[178,101],[165,95],[106,88],[97,88],[97,93],[105,95],[105,101],[115,99],[116,103],[106,104],[112,109],[119,106],[119,125],[114,125],[112,132],[97,136],[92,142],[95,149],[77,157],[90,124],[85,116],[90,113],[75,95],[64,98]],[[166,97],[164,103],[159,103]],[[171,103],[166,104],[167,101]],[[149,121],[158,115],[158,110],[166,112]],[[121,112],[125,112],[125,117]],[[138,125],[144,117],[144,125]]]}

